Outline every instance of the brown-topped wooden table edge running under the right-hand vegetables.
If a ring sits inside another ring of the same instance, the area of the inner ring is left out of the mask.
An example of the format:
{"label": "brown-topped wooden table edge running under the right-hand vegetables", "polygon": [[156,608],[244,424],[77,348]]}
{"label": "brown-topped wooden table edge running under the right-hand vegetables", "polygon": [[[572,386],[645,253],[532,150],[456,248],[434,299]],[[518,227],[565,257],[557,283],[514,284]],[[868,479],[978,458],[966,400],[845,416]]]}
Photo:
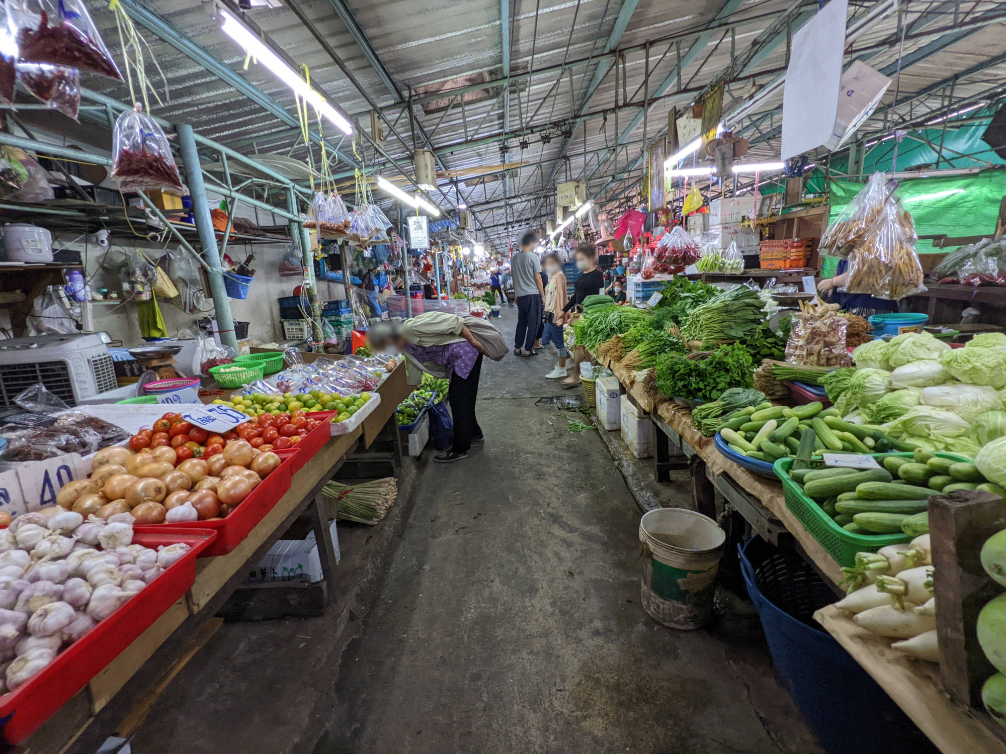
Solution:
{"label": "brown-topped wooden table edge running under the right-hand vegetables", "polygon": [[[597,357],[596,357],[597,358]],[[642,389],[642,373],[631,373],[619,362],[598,359],[618,378],[629,399],[649,412],[657,432],[658,481],[670,443],[689,458],[695,509],[715,518],[709,485],[766,540],[781,544],[781,534],[815,570],[838,590],[842,573],[838,563],[818,544],[786,507],[782,484],[753,474],[725,458],[711,437],[691,421],[691,412],[672,401],[653,401]],[[782,530],[782,531],[781,531]],[[890,640],[860,629],[833,605],[818,610],[815,619],[849,652],[898,707],[945,754],[1006,754],[1006,744],[986,727],[974,711],[954,704],[943,691],[939,669],[909,661],[890,648]],[[984,713],[982,713],[984,714]]]}

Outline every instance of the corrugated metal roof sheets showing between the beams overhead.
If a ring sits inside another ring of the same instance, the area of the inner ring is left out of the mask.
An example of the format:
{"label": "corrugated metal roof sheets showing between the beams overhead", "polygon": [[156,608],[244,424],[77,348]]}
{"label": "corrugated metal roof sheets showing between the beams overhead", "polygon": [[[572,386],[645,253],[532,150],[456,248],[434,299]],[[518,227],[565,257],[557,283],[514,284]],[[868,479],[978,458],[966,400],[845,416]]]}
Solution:
{"label": "corrugated metal roof sheets showing between the beams overhead", "polygon": [[[140,2],[141,0],[135,0]],[[285,0],[286,1],[286,0]],[[381,76],[368,62],[363,50],[336,13],[333,4],[339,0],[290,0],[297,2],[311,24],[331,45],[372,101],[381,107],[402,141],[388,134],[386,154],[400,165],[410,165],[412,150],[407,114],[403,106],[388,91]],[[701,87],[717,77],[728,79],[724,106],[736,98],[750,93],[752,87],[771,80],[783,69],[787,61],[786,32],[776,35],[776,43],[761,52],[745,70],[731,66],[731,47],[741,55],[765,30],[790,11],[796,25],[810,17],[817,9],[816,0],[794,3],[793,0],[746,0],[725,3],[733,8],[731,13],[715,20],[724,2],[685,2],[685,0],[639,0],[625,32],[615,40],[617,48],[624,50],[623,64],[609,66],[607,75],[597,87],[586,106],[588,117],[577,122],[575,136],[568,145],[565,159],[555,170],[555,179],[549,176],[555,168],[564,143],[563,131],[570,130],[570,119],[584,107],[584,97],[595,70],[597,56],[605,52],[612,30],[616,25],[622,0],[507,0],[511,18],[511,74],[531,71],[530,77],[518,77],[512,83],[510,95],[510,131],[505,141],[503,134],[502,88],[497,84],[493,97],[482,102],[456,103],[449,110],[426,113],[414,108],[416,121],[430,136],[436,149],[450,145],[459,148],[440,157],[448,171],[491,166],[503,162],[527,162],[509,171],[509,180],[499,180],[497,173],[490,180],[478,185],[461,185],[460,192],[453,182],[445,178],[440,182],[442,194],[433,198],[447,206],[450,202],[464,201],[475,210],[477,222],[488,228],[489,238],[500,243],[508,237],[507,222],[512,225],[541,222],[554,214],[554,182],[573,180],[590,175],[592,191],[600,190],[613,177],[626,174],[631,178],[641,174],[641,168],[630,171],[638,162],[644,147],[644,125],[640,122],[632,131],[627,130],[634,116],[640,112],[638,105],[643,98],[646,68],[646,50],[643,45],[651,41],[650,96],[658,93],[659,84],[672,79],[667,95],[651,105],[646,118],[646,136],[649,140],[666,126],[671,107],[688,105]],[[96,23],[105,40],[119,55],[118,33],[115,20],[103,0],[88,0]],[[209,52],[235,74],[254,83],[289,112],[295,112],[293,95],[283,83],[263,66],[252,63],[245,69],[243,51],[219,30],[213,2],[200,0],[142,0],[144,6],[156,13],[177,32]],[[873,2],[850,3],[851,13],[859,17]],[[346,0],[348,9],[376,51],[380,62],[406,97],[409,87],[445,85],[461,76],[485,73],[489,80],[498,79],[502,71],[501,5],[499,0],[468,0],[465,3],[447,0],[385,0],[368,2]],[[902,8],[901,21],[905,24],[907,39],[899,49],[898,14],[891,13],[876,22],[854,43],[854,50],[867,50],[869,64],[877,68],[893,65],[898,55],[906,58],[924,45],[948,33],[948,29],[961,27],[987,13],[1002,13],[1001,4],[993,0],[979,0],[967,4],[966,12],[954,2],[914,3]],[[956,15],[955,15],[956,13]],[[345,112],[360,116],[362,128],[369,130],[366,113],[370,106],[360,91],[347,79],[338,65],[329,57],[315,37],[304,27],[294,12],[286,5],[278,8],[256,8],[247,17],[266,32],[299,64],[310,69],[312,83]],[[706,44],[685,67],[680,84],[674,81],[678,45],[686,53],[697,33],[714,24]],[[923,35],[926,29],[942,29],[942,34]],[[963,71],[1006,52],[1006,37],[1002,23],[994,27],[976,27],[953,44],[901,72],[897,84],[900,98],[921,91],[948,79],[956,71]],[[304,159],[307,150],[300,144],[298,131],[283,123],[275,115],[249,102],[232,85],[193,62],[168,42],[147,30],[142,30],[167,79],[170,101],[154,108],[156,115],[175,123],[187,122],[205,136],[235,149],[252,153],[291,154]],[[677,39],[671,38],[677,35]],[[677,42],[677,44],[676,44]],[[870,49],[886,45],[879,49]],[[565,69],[570,61],[580,61]],[[535,73],[535,71],[541,71]],[[954,86],[954,100],[977,96],[1002,80],[1006,64],[994,66],[962,79]],[[148,71],[149,72],[149,71]],[[752,75],[753,74],[753,75]],[[86,85],[113,97],[128,101],[128,88],[108,79],[88,76]],[[679,88],[685,91],[675,96]],[[881,105],[889,105],[894,86]],[[898,109],[898,114],[915,119],[936,108],[948,105],[949,91],[937,91]],[[626,108],[625,103],[635,104]],[[782,92],[769,98],[743,120],[746,136],[752,140],[749,159],[765,160],[778,155],[778,133],[774,138],[761,140],[759,131],[748,128],[751,120],[775,110],[776,113],[759,126],[763,133],[772,133],[781,124]],[[621,109],[616,112],[616,108]],[[903,110],[903,113],[902,113]],[[592,115],[594,114],[594,115]],[[888,118],[890,115],[888,114]],[[547,125],[550,127],[546,128]],[[883,127],[883,117],[875,117],[864,125],[863,131],[873,132]],[[314,125],[317,128],[317,124]],[[328,123],[322,126],[326,139],[333,144],[340,141],[341,133]],[[386,131],[388,131],[386,129]],[[522,133],[530,131],[525,136]],[[485,143],[487,138],[496,141]],[[544,137],[544,138],[543,138]],[[616,140],[628,147],[615,149]],[[420,137],[420,147],[424,147]],[[507,151],[501,152],[505,145]],[[342,150],[352,153],[349,140]],[[384,159],[375,154],[369,143],[357,146],[368,165],[381,166]],[[317,151],[316,151],[317,158]],[[748,159],[748,158],[745,158]],[[350,166],[336,167],[343,172]],[[393,170],[380,168],[388,172]],[[465,181],[466,177],[462,177]],[[616,186],[619,184],[616,183]],[[507,191],[508,188],[508,191]],[[511,204],[505,209],[507,199]],[[378,197],[375,197],[378,198]],[[385,208],[390,200],[379,197]]]}

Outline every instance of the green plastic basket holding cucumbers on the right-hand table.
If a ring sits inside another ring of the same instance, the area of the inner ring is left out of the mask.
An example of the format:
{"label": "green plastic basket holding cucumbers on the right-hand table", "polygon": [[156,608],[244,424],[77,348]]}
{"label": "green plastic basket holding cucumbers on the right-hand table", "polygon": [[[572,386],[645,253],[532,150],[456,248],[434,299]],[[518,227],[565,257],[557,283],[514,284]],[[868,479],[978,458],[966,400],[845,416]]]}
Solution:
{"label": "green plastic basket holding cucumbers on the right-hand table", "polygon": [[[871,455],[911,457],[910,452],[871,453]],[[954,453],[934,453],[934,455],[953,460],[968,460],[968,458]],[[810,532],[811,536],[828,551],[836,563],[841,566],[853,566],[857,552],[876,552],[887,545],[900,545],[911,541],[912,538],[907,534],[853,534],[845,531],[832,521],[831,517],[812,498],[804,495],[800,485],[791,479],[790,466],[793,465],[794,460],[795,458],[792,457],[779,458],[773,464],[776,476],[783,483],[786,507],[800,520],[804,529]],[[822,465],[822,467],[824,466]],[[933,494],[936,495],[936,491]]]}

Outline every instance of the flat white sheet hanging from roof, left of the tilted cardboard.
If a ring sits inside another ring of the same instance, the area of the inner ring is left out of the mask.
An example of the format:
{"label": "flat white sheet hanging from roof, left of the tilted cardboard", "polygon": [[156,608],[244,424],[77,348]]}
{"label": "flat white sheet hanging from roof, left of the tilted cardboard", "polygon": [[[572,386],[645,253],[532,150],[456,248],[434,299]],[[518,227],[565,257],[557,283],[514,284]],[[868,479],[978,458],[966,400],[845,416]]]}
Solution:
{"label": "flat white sheet hanging from roof, left of the tilted cardboard", "polygon": [[832,137],[847,13],[848,0],[831,0],[793,34],[783,91],[783,160],[810,152]]}

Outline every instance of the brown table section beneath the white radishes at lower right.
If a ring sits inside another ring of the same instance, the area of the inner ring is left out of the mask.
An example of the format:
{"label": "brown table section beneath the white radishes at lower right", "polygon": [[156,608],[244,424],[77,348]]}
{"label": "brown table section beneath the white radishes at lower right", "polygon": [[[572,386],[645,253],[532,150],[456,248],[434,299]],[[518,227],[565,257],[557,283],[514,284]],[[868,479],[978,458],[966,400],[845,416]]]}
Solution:
{"label": "brown table section beneath the white radishes at lower right", "polygon": [[939,666],[909,659],[891,649],[890,639],[860,628],[834,605],[818,610],[814,618],[944,754],[1006,751],[1006,745],[979,718],[985,713],[962,709],[946,697],[940,684]]}

